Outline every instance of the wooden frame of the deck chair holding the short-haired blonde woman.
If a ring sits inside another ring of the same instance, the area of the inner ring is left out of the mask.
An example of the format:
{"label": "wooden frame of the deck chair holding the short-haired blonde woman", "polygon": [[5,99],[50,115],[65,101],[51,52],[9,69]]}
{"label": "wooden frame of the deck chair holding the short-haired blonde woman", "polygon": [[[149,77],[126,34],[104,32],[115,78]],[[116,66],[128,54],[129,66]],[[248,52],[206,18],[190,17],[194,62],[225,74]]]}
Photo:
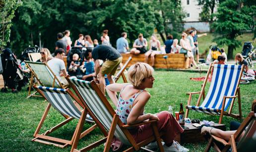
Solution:
{"label": "wooden frame of the deck chair holding the short-haired blonde woman", "polygon": [[[79,92],[76,89],[76,87],[69,80],[69,76],[67,76],[66,79],[67,79],[68,83],[70,84],[71,88],[74,90],[75,94],[80,99],[80,101],[84,101],[85,104],[86,104],[86,99],[83,99],[81,97],[81,95],[79,94]],[[77,144],[78,144],[78,140],[79,140],[79,135],[80,135],[80,129],[78,129],[78,133],[77,133],[77,136],[74,139],[74,144],[73,144],[73,146],[71,148],[71,152],[87,152],[89,150],[94,149],[95,147],[97,147],[99,145],[102,145],[105,142],[106,142],[106,145],[105,145],[105,148],[104,148],[104,152],[109,152],[110,146],[111,146],[111,142],[112,142],[112,139],[114,137],[114,133],[115,133],[115,129],[116,129],[117,125],[121,128],[121,130],[126,135],[128,141],[131,144],[131,147],[128,148],[124,152],[132,152],[134,150],[138,151],[140,148],[142,148],[143,146],[153,142],[154,140],[156,140],[156,142],[158,144],[158,147],[160,149],[160,152],[164,152],[164,149],[163,149],[163,146],[162,146],[162,143],[161,143],[161,138],[160,138],[164,133],[163,132],[161,132],[161,133],[158,132],[157,125],[156,125],[157,120],[144,121],[144,122],[141,122],[141,123],[138,123],[138,124],[134,124],[134,125],[124,125],[123,122],[119,119],[119,116],[116,114],[115,110],[110,105],[110,103],[107,100],[107,98],[103,95],[103,93],[101,92],[100,88],[97,86],[95,81],[91,81],[91,86],[92,86],[93,90],[96,92],[96,94],[99,96],[101,101],[104,103],[104,105],[106,106],[106,108],[108,109],[110,114],[113,116],[113,121],[112,121],[111,127],[109,128],[110,129],[109,133],[108,134],[104,134],[105,138],[103,138],[103,139],[101,139],[101,140],[99,140],[99,141],[97,141],[97,142],[95,142],[95,143],[93,143],[93,144],[91,144],[91,145],[81,149],[81,150],[76,150]],[[96,116],[93,113],[92,113],[91,116],[93,118],[96,118]],[[129,133],[128,128],[136,127],[136,126],[140,126],[140,125],[145,125],[145,124],[151,124],[154,136],[151,136],[150,138],[148,138],[148,139],[146,139],[146,140],[144,140],[144,141],[142,141],[140,143],[136,143],[135,140],[133,139],[133,137],[131,136],[131,134]]]}

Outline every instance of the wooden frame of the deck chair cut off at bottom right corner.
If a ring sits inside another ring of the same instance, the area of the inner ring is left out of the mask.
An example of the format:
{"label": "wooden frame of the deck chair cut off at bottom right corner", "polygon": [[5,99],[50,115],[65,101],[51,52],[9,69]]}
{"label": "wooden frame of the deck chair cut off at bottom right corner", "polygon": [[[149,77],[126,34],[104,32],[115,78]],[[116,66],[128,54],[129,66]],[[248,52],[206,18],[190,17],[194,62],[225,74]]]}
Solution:
{"label": "wooden frame of the deck chair cut off at bottom right corner", "polygon": [[[251,121],[255,121],[255,117],[256,117],[256,114],[254,113],[254,111],[251,111],[249,115],[244,119],[242,124],[239,126],[235,134],[231,135],[230,140],[228,142],[220,137],[211,135],[211,138],[209,139],[209,142],[204,152],[209,152],[211,147],[213,147],[216,152],[227,152],[231,147],[232,147],[232,152],[237,152],[236,142],[238,142],[238,138],[241,136],[241,134],[243,133],[245,128],[248,126],[248,124]],[[224,145],[223,150],[220,150],[220,148],[216,145],[215,141]]]}

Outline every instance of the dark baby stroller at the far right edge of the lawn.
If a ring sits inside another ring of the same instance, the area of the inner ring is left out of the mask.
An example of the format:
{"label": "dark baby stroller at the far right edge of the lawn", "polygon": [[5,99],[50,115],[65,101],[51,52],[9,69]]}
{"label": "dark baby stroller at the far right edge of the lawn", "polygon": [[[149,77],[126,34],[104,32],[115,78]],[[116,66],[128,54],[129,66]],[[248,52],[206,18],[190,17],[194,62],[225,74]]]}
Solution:
{"label": "dark baby stroller at the far right edge of the lawn", "polygon": [[251,68],[254,68],[254,64],[253,64],[252,60],[255,59],[255,50],[256,49],[254,48],[254,46],[252,45],[251,42],[245,42],[244,43],[242,55],[247,60],[249,66]]}

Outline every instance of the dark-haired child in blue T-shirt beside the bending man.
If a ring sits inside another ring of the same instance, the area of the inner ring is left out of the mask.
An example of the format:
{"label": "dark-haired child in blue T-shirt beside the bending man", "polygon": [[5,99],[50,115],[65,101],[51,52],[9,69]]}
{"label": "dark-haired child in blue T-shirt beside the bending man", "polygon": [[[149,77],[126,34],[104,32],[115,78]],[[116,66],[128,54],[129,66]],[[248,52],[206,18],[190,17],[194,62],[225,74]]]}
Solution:
{"label": "dark-haired child in blue T-shirt beside the bending man", "polygon": [[95,79],[95,72],[94,72],[94,62],[92,58],[89,56],[89,52],[92,52],[91,49],[85,51],[84,56],[86,58],[86,62],[84,63],[84,67],[86,68],[85,75],[83,76],[83,80],[85,81],[92,81]]}

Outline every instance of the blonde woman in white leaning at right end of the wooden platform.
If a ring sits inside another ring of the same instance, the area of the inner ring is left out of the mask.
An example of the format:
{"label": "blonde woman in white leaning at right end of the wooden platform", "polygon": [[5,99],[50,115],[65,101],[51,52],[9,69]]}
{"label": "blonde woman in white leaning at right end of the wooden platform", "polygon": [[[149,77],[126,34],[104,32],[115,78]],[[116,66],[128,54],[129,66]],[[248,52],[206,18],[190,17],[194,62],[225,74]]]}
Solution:
{"label": "blonde woman in white leaning at right end of the wooden platform", "polygon": [[180,45],[182,47],[181,51],[185,52],[187,51],[187,55],[190,58],[189,61],[189,68],[191,68],[191,63],[194,65],[195,68],[198,68],[195,61],[194,61],[194,56],[192,54],[192,48],[190,45],[190,41],[187,39],[187,34],[182,33],[182,39],[180,40]]}

